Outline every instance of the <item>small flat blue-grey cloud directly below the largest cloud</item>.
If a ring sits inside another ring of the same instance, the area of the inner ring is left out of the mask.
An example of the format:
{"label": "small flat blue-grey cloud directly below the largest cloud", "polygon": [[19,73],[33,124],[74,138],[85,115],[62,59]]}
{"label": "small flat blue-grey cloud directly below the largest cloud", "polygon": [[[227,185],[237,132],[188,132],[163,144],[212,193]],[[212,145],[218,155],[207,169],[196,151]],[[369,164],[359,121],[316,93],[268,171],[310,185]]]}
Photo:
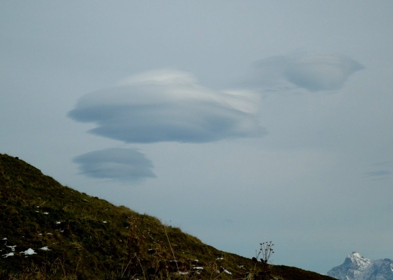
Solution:
{"label": "small flat blue-grey cloud directly below the largest cloud", "polygon": [[81,173],[95,178],[140,181],[154,178],[153,165],[144,154],[135,149],[110,148],[77,156]]}

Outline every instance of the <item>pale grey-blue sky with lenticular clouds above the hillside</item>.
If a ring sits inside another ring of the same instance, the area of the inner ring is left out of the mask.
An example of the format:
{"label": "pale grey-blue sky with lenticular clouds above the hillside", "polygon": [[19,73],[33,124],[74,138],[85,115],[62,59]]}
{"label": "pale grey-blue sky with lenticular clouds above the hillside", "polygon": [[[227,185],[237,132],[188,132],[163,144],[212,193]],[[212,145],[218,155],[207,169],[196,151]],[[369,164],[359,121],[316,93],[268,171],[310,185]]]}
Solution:
{"label": "pale grey-blue sky with lenticular clouds above the hillside", "polygon": [[0,153],[225,252],[393,258],[392,11],[1,1]]}

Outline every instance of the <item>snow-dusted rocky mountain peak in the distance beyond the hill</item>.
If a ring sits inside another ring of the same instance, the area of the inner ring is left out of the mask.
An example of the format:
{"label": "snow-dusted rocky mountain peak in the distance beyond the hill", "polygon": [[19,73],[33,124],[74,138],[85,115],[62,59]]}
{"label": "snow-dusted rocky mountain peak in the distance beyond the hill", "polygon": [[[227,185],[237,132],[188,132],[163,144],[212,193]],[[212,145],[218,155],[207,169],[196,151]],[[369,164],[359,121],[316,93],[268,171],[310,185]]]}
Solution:
{"label": "snow-dusted rocky mountain peak in the distance beyond the hill", "polygon": [[370,260],[358,252],[348,254],[344,263],[327,273],[339,280],[393,280],[391,259]]}

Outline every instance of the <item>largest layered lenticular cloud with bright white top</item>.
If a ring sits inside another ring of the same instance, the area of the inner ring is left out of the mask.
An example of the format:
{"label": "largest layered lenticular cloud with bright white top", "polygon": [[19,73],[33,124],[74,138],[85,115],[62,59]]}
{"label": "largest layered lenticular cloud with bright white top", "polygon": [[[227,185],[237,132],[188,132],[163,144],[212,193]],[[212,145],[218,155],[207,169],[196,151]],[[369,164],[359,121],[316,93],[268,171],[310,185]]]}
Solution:
{"label": "largest layered lenticular cloud with bright white top", "polygon": [[211,142],[264,135],[258,111],[252,91],[216,91],[187,72],[161,70],[86,94],[68,116],[96,123],[90,133],[128,143]]}

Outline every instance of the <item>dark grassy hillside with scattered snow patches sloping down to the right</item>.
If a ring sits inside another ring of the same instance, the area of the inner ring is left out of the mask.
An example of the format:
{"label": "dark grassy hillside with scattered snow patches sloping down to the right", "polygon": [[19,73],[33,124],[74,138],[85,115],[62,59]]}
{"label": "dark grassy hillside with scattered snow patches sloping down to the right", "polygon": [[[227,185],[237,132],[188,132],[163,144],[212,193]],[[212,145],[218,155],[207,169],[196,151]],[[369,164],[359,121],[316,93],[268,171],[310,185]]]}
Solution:
{"label": "dark grassy hillside with scattered snow patches sloping down to the right", "polygon": [[[270,269],[271,279],[332,279],[286,266]],[[260,262],[255,266],[154,217],[62,186],[0,154],[0,280],[261,279],[261,270]]]}

